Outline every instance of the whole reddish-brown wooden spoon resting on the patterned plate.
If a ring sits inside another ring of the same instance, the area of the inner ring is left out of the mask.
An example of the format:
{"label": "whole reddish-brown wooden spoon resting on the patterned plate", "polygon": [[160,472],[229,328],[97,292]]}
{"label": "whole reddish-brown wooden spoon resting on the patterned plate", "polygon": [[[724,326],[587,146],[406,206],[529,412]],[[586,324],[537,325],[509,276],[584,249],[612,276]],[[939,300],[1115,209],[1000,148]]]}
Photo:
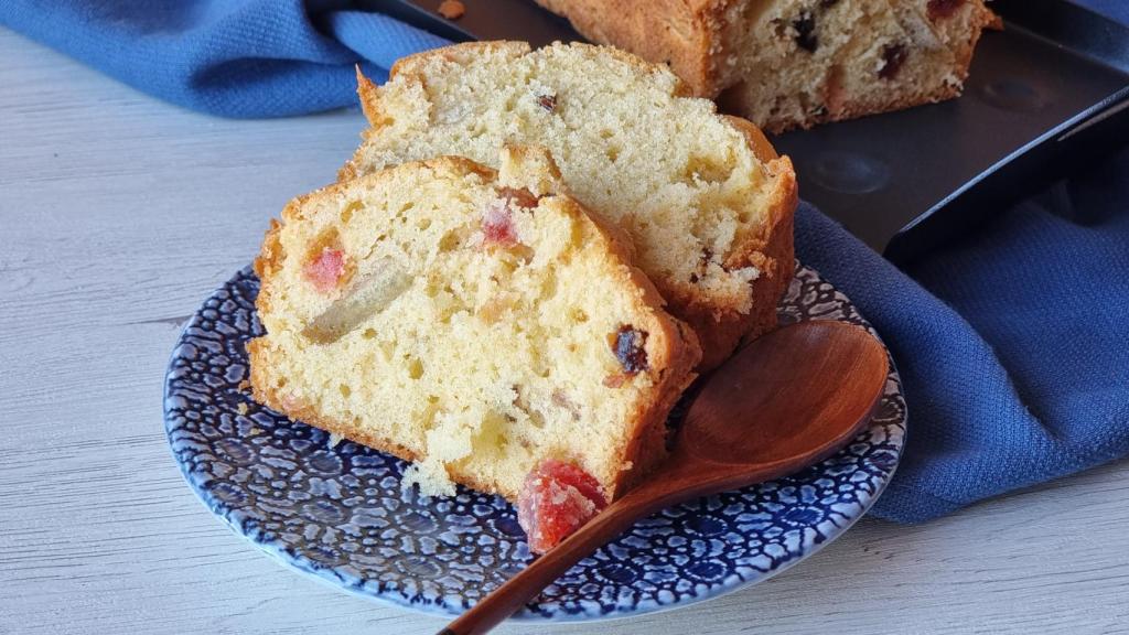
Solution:
{"label": "whole reddish-brown wooden spoon resting on the patterned plate", "polygon": [[488,632],[658,510],[779,478],[830,456],[870,420],[887,372],[882,345],[843,322],[802,322],[753,341],[703,383],[674,451],[654,475],[439,635]]}

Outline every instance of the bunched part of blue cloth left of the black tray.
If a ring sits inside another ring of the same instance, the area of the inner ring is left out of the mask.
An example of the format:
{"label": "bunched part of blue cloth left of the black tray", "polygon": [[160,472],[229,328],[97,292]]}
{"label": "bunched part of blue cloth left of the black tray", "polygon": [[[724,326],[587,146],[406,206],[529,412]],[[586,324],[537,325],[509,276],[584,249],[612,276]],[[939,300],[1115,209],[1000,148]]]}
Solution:
{"label": "bunched part of blue cloth left of the black tray", "polygon": [[357,104],[360,63],[448,42],[348,0],[3,0],[0,24],[186,108],[230,118]]}

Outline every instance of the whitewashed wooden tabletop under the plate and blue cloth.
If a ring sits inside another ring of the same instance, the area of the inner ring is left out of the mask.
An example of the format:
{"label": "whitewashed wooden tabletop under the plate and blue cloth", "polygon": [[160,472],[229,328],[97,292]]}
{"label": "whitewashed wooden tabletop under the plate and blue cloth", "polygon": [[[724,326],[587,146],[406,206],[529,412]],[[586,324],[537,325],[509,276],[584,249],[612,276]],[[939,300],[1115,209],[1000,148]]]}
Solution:
{"label": "whitewashed wooden tabletop under the plate and blue cloth", "polygon": [[[333,180],[361,127],[194,114],[0,28],[0,634],[441,627],[236,537],[161,424],[181,324],[287,199]],[[1129,633],[1129,462],[921,527],[864,520],[691,608],[499,630]]]}

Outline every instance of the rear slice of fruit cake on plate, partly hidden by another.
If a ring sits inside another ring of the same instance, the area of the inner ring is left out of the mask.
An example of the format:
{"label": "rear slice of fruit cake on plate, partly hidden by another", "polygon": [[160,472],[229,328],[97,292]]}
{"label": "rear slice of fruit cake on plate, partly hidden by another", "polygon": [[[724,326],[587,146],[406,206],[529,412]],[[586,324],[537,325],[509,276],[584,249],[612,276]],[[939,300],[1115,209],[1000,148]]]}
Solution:
{"label": "rear slice of fruit cake on plate, partly hidden by another", "polygon": [[440,155],[493,165],[550,150],[569,192],[634,243],[637,264],[698,332],[702,367],[776,325],[791,279],[796,179],[760,130],[684,96],[663,66],[587,44],[448,46],[360,78],[371,124],[347,180]]}

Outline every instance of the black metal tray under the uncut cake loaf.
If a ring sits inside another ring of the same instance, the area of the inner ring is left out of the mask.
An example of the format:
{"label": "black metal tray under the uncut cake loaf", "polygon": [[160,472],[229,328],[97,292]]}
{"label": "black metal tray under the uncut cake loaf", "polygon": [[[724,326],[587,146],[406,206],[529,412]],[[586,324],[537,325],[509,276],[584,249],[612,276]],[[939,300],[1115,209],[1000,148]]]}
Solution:
{"label": "black metal tray under the uncut cake loaf", "polygon": [[[370,0],[453,41],[581,37],[532,0]],[[996,0],[964,96],[789,132],[800,195],[899,263],[1129,142],[1129,28],[1066,0]]]}

